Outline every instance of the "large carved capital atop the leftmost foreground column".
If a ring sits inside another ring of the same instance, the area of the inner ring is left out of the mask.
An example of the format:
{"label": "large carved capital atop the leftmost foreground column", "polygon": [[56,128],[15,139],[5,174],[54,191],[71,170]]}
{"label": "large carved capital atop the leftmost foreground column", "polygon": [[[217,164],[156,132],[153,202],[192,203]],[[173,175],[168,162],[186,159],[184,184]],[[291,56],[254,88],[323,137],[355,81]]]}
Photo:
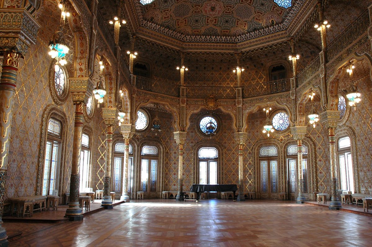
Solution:
{"label": "large carved capital atop the leftmost foreground column", "polygon": [[0,9],[0,55],[12,50],[25,55],[36,44],[40,25],[26,9]]}

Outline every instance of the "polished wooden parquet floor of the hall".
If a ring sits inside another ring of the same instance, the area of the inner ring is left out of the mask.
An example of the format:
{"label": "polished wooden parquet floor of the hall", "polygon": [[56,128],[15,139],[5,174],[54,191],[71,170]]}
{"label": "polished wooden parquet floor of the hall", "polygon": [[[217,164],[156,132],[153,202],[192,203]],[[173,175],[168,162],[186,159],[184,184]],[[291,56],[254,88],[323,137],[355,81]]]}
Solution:
{"label": "polished wooden parquet floor of the hall", "polygon": [[372,218],[290,201],[133,200],[57,224],[6,222],[9,246],[372,246]]}

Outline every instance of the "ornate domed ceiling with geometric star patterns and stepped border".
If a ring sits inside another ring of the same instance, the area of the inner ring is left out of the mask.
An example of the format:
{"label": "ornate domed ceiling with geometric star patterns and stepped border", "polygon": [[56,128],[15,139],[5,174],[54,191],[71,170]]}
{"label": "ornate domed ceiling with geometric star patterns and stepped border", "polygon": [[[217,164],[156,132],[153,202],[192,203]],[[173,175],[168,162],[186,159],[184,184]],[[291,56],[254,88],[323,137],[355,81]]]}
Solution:
{"label": "ornate domed ceiling with geometric star patterns and stepped border", "polygon": [[288,40],[316,0],[134,0],[136,35],[179,49],[237,51]]}

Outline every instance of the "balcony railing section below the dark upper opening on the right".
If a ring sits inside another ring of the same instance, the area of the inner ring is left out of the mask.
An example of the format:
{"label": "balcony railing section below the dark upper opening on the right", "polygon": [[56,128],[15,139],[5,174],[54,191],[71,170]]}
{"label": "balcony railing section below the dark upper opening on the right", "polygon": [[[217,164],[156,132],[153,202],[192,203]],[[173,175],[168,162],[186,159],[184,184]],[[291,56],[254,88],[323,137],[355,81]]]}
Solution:
{"label": "balcony railing section below the dark upper opening on the right", "polygon": [[290,85],[290,78],[246,85],[243,87],[243,98],[288,92]]}

